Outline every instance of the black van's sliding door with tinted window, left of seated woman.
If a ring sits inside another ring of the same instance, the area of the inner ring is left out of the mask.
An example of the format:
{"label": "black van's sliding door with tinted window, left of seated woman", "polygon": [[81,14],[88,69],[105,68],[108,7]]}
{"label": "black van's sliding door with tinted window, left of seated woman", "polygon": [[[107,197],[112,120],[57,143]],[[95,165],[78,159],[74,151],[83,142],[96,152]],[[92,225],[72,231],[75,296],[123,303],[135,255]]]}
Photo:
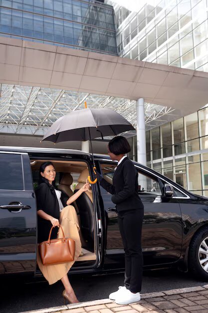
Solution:
{"label": "black van's sliding door with tinted window, left of seated woman", "polygon": [[35,268],[36,203],[29,157],[0,151],[0,274]]}

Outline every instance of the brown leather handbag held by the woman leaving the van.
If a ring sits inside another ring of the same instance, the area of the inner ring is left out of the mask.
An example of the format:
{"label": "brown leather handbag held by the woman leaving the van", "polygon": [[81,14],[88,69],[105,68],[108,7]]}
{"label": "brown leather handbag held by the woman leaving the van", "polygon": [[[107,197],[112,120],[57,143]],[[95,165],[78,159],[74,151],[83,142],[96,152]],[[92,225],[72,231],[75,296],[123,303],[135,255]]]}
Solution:
{"label": "brown leather handbag held by the woman leaving the van", "polygon": [[74,260],[75,253],[75,241],[71,238],[65,238],[63,228],[63,238],[50,239],[51,231],[47,241],[43,241],[38,244],[38,250],[43,265],[59,264],[70,262]]}

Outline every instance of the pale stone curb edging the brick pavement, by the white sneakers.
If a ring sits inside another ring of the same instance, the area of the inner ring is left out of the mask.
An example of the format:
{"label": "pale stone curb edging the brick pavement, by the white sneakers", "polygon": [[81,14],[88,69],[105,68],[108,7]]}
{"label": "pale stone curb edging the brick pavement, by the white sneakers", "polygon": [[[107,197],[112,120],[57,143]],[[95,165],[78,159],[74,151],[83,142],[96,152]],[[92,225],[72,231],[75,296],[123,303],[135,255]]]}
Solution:
{"label": "pale stone curb edging the brick pavement, by the white sneakers", "polygon": [[[202,291],[202,290],[206,290],[206,289],[208,289],[208,284],[203,285],[203,286],[171,289],[171,290],[164,290],[164,291],[159,291],[159,292],[141,293],[141,299],[154,298],[154,297],[158,297],[158,296],[172,295],[172,294],[178,294],[178,293]],[[53,312],[57,312],[57,311],[61,311],[61,310],[69,310],[72,308],[79,308],[79,307],[113,303],[113,302],[114,302],[114,300],[110,300],[110,299],[99,299],[99,300],[92,300],[92,301],[86,301],[86,302],[80,302],[80,303],[72,303],[72,304],[61,305],[61,306],[41,308],[41,309],[31,310],[31,311],[22,311],[19,313],[53,313]]]}

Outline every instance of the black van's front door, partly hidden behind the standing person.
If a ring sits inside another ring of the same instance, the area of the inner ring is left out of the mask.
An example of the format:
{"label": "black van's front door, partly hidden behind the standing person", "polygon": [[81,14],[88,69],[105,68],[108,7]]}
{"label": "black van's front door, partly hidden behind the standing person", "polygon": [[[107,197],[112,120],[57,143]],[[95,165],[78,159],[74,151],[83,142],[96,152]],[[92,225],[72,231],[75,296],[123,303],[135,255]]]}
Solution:
{"label": "black van's front door, partly hidden behind the standing person", "polygon": [[[109,182],[112,182],[115,166],[112,161],[100,162],[102,175]],[[160,178],[139,166],[136,168],[139,172],[138,192],[145,210],[142,229],[144,265],[174,262],[179,259],[182,247],[180,205],[176,198],[164,196]],[[106,256],[110,262],[123,254],[123,243],[111,194],[101,186],[100,191],[106,215]]]}

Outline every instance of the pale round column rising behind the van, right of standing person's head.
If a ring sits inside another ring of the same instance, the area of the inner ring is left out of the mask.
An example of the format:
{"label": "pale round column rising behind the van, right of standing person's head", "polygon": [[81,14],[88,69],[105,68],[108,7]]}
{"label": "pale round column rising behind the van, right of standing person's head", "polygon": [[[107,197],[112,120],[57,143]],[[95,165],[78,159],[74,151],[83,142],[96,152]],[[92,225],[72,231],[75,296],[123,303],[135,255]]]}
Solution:
{"label": "pale round column rising behind the van, right of standing person's head", "polygon": [[[136,101],[137,106],[137,161],[143,165],[147,165],[146,157],[146,134],[145,134],[145,101],[139,98]],[[146,176],[139,174],[138,177],[141,190],[147,191]]]}

